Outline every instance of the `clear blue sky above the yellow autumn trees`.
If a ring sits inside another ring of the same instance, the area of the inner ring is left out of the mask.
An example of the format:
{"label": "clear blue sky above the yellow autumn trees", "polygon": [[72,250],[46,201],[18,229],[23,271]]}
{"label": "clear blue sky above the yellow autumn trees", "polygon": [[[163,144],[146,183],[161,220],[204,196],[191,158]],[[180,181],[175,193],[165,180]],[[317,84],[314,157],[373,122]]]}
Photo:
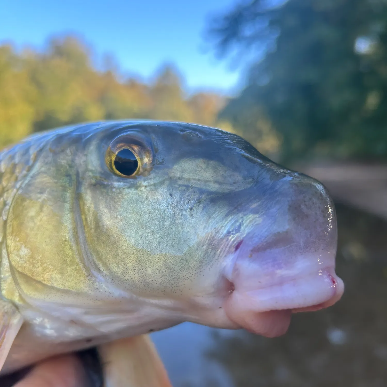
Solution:
{"label": "clear blue sky above the yellow autumn trees", "polygon": [[1,0],[0,42],[42,47],[48,36],[77,33],[98,56],[145,79],[163,63],[177,65],[188,89],[229,90],[239,74],[205,52],[208,17],[235,0]]}

